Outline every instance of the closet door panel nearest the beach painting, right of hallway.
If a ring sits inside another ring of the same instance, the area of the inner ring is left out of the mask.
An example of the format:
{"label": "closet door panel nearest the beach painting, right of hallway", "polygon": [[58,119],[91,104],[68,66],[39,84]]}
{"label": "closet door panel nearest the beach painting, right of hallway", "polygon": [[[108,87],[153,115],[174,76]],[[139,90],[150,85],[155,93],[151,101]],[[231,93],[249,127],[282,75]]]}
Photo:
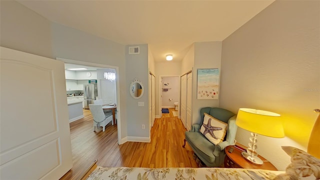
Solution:
{"label": "closet door panel nearest the beach painting, right of hallway", "polygon": [[186,92],[186,129],[191,129],[192,123],[192,72],[186,74],[186,84],[187,84],[187,92]]}

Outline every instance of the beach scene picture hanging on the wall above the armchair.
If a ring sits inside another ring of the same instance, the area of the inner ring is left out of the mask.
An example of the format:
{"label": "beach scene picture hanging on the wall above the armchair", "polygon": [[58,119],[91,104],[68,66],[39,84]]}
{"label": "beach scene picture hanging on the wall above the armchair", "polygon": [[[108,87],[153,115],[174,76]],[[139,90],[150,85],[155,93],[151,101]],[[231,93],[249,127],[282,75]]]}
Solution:
{"label": "beach scene picture hanging on the wall above the armchair", "polygon": [[218,99],[219,69],[197,69],[197,99]]}

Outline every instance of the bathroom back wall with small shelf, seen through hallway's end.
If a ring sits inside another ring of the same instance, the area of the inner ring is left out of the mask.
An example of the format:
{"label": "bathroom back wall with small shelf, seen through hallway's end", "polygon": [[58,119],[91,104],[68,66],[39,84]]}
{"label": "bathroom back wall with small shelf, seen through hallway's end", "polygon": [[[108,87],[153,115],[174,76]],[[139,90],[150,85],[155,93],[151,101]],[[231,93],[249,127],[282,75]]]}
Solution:
{"label": "bathroom back wall with small shelf, seen through hallway's end", "polygon": [[[163,83],[168,83],[163,86]],[[167,88],[164,91],[163,88]],[[174,102],[180,101],[180,77],[162,77],[162,107],[174,107]]]}

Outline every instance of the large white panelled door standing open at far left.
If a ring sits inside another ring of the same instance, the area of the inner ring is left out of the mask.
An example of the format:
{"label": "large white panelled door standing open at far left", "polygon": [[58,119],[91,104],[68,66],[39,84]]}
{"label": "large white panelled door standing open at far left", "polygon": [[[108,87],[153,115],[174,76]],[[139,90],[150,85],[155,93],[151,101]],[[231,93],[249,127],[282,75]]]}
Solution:
{"label": "large white panelled door standing open at far left", "polygon": [[0,47],[0,179],[72,167],[64,62]]}

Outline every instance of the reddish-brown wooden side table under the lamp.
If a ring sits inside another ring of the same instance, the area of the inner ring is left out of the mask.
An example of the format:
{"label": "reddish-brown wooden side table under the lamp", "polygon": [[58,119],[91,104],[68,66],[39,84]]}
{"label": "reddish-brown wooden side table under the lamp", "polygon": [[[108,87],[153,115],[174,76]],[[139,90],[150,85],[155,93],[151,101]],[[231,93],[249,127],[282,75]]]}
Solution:
{"label": "reddish-brown wooden side table under the lamp", "polygon": [[[240,145],[244,147],[243,145]],[[232,152],[229,152],[229,149],[233,148]],[[235,148],[233,145],[226,146],[224,148],[225,157],[224,157],[224,167],[226,168],[247,168],[247,169],[267,169],[267,170],[277,170],[274,165],[271,164],[268,160],[258,155],[263,161],[263,164],[257,165],[249,162],[241,155],[241,150]]]}

